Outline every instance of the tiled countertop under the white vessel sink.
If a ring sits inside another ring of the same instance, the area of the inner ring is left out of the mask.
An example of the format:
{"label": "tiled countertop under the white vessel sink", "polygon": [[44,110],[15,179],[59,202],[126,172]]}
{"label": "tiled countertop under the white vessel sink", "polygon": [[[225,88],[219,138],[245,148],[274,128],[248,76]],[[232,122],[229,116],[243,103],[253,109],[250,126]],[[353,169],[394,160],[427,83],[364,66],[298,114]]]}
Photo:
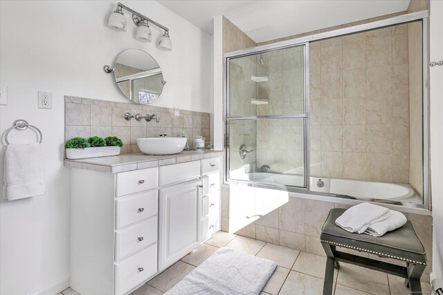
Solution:
{"label": "tiled countertop under the white vessel sink", "polygon": [[89,158],[80,160],[64,160],[64,166],[99,172],[125,172],[175,163],[189,162],[223,155],[223,151],[182,151],[175,155],[145,155],[143,153],[127,153],[111,157]]}

